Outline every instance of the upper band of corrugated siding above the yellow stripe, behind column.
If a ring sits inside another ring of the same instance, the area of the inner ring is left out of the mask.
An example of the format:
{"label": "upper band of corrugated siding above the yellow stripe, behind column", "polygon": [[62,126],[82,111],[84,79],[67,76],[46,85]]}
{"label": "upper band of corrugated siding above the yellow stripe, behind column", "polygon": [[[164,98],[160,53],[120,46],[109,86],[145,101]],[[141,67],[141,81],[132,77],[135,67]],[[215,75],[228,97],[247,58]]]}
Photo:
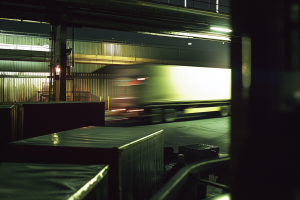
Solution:
{"label": "upper band of corrugated siding above the yellow stripe, behind column", "polygon": [[[49,38],[37,36],[0,35],[1,43],[19,45],[49,45]],[[71,47],[69,40],[68,46]],[[144,46],[135,44],[117,44],[108,42],[75,41],[75,53],[88,55],[124,56],[158,60],[201,61],[201,51]],[[80,69],[80,68],[79,68]],[[39,69],[37,69],[39,71]],[[30,70],[29,70],[30,71]],[[45,68],[41,71],[47,71]],[[91,72],[92,70],[77,70],[75,72]]]}

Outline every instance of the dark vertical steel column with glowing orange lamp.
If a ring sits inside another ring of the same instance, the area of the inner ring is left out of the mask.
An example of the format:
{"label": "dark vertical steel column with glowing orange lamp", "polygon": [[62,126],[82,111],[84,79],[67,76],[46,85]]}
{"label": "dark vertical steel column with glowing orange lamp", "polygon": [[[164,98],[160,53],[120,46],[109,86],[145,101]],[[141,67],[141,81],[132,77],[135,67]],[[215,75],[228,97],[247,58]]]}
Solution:
{"label": "dark vertical steel column with glowing orange lamp", "polygon": [[[55,98],[56,101],[66,101],[66,69],[67,69],[67,15],[62,15],[61,24],[55,29],[55,67],[60,69],[59,81],[56,81]],[[59,90],[58,90],[59,88]]]}

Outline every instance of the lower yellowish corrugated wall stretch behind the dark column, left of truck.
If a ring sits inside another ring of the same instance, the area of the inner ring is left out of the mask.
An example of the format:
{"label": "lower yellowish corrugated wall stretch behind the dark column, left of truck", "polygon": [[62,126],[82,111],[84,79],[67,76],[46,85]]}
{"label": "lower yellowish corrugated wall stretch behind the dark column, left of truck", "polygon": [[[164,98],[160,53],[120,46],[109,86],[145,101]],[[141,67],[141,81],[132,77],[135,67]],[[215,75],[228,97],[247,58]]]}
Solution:
{"label": "lower yellowish corrugated wall stretch behind the dark column, left of truck", "polygon": [[[33,77],[46,77],[49,75],[49,73],[1,72],[0,102],[39,101],[38,92],[48,92],[49,79]],[[17,76],[19,78],[14,78]],[[27,78],[26,76],[30,78]],[[113,87],[112,79],[109,76],[100,77],[97,74],[81,74],[81,76],[74,79],[74,88],[75,91],[88,91],[95,96],[101,97],[101,100],[105,102],[107,101],[108,96],[113,98],[115,95],[115,88]],[[67,81],[67,91],[73,91],[72,81]]]}

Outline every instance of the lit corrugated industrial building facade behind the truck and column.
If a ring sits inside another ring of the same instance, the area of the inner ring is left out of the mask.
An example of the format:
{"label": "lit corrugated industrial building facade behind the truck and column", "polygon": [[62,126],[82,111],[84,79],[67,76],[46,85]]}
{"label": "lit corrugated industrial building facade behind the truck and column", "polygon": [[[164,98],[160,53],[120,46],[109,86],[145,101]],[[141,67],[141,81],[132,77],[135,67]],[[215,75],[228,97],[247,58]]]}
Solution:
{"label": "lit corrugated industrial building facade behind the truck and column", "polygon": [[[220,42],[221,43],[221,42]],[[177,64],[228,68],[224,51],[178,46],[128,44],[122,41],[67,40],[74,49],[74,77],[66,82],[67,101],[104,101],[114,97],[113,75],[92,72],[110,64]],[[0,102],[48,101],[51,40],[49,35],[1,31]],[[218,59],[216,59],[218,58]]]}

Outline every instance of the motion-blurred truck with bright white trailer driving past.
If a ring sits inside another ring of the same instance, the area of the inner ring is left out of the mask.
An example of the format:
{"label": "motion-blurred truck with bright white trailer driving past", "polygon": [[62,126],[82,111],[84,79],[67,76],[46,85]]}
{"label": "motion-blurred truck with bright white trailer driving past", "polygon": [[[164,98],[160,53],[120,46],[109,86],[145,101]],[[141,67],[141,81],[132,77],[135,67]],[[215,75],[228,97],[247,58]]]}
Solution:
{"label": "motion-blurred truck with bright white trailer driving past", "polygon": [[95,73],[113,74],[109,105],[116,115],[161,123],[195,113],[231,114],[231,69],[135,64],[104,66]]}

